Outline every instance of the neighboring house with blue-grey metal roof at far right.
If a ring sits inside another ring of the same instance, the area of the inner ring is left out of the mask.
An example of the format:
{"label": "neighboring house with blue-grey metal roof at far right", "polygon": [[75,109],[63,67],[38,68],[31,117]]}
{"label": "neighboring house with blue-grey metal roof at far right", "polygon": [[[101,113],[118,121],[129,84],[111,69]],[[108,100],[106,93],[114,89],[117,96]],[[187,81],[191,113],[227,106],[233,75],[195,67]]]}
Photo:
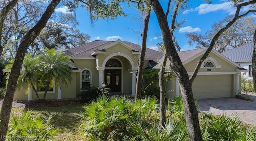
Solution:
{"label": "neighboring house with blue-grey metal roof at far right", "polygon": [[253,46],[253,42],[250,42],[226,52],[222,52],[224,56],[246,69],[241,71],[241,76],[245,77],[246,79],[252,79]]}

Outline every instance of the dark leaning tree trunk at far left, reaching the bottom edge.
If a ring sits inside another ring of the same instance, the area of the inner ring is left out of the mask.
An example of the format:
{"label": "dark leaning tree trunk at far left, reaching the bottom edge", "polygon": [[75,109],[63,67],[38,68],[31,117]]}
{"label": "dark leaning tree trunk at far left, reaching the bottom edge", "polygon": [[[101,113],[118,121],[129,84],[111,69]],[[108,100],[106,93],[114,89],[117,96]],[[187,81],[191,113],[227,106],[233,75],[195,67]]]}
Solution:
{"label": "dark leaning tree trunk at far left, reaching the bottom edge", "polygon": [[10,76],[8,79],[8,84],[6,87],[6,95],[4,96],[4,101],[2,103],[2,109],[1,109],[1,121],[0,121],[0,141],[4,141],[4,137],[6,137],[6,133],[8,130],[8,123],[10,119],[10,113],[12,109],[12,101],[14,97],[14,92],[17,84],[18,77],[20,75],[20,70],[22,66],[22,62],[24,60],[24,56],[26,54],[26,50],[30,46],[30,44],[34,41],[34,39],[38,36],[38,34],[41,32],[41,30],[46,25],[48,19],[54,12],[54,9],[56,6],[60,3],[59,0],[53,0],[48,7],[46,8],[46,11],[40,18],[40,20],[36,23],[36,25],[31,28],[28,33],[24,36],[22,41],[20,42],[20,46],[18,48],[18,51],[15,56],[14,63],[12,65],[12,70],[10,72]]}

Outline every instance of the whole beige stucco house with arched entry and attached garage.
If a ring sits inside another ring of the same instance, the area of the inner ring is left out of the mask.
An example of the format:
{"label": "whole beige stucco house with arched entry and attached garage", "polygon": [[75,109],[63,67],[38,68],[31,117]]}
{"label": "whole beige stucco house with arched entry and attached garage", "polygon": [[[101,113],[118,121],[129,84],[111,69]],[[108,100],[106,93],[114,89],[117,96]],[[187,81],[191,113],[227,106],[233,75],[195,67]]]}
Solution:
{"label": "whole beige stucco house with arched entry and attached garage", "polygon": [[[205,51],[204,48],[178,52],[189,75]],[[76,98],[82,87],[90,84],[101,87],[103,81],[112,92],[131,93],[135,96],[140,46],[121,40],[96,40],[65,50],[64,54],[73,61],[70,64],[74,72],[73,81],[67,88],[64,85],[54,86],[46,99]],[[146,48],[144,68],[157,68],[156,64],[162,56],[161,52]],[[240,69],[243,68],[213,50],[193,82],[194,98],[234,97],[240,87]],[[168,98],[180,93],[175,79],[170,82],[169,88],[173,91],[168,93]],[[36,99],[34,92],[26,95],[24,90],[20,90],[16,91],[14,100],[26,100],[28,97],[30,100]]]}

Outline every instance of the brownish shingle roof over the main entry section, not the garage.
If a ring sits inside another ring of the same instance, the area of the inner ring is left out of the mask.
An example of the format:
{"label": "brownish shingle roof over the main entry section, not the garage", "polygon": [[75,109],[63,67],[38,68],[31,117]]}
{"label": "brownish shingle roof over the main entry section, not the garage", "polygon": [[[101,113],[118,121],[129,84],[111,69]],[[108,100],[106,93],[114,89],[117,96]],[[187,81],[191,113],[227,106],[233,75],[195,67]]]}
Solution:
{"label": "brownish shingle roof over the main entry section, not the garage", "polygon": [[[94,58],[94,56],[91,55],[92,52],[95,50],[98,50],[104,46],[107,46],[108,44],[111,44],[115,41],[100,41],[100,40],[95,40],[92,42],[89,42],[87,44],[83,44],[80,46],[77,46],[75,48],[71,48],[68,50],[64,51],[64,54],[70,56],[71,58],[75,57],[83,57],[83,58]],[[137,44],[133,44],[131,42],[124,42],[125,44],[128,44],[129,46],[132,46],[133,48],[136,48],[138,51],[140,51],[140,46]],[[159,58],[162,58],[163,53],[158,52],[156,50],[152,50],[150,48],[146,48],[146,54],[145,58],[147,59],[152,59],[156,61]]]}

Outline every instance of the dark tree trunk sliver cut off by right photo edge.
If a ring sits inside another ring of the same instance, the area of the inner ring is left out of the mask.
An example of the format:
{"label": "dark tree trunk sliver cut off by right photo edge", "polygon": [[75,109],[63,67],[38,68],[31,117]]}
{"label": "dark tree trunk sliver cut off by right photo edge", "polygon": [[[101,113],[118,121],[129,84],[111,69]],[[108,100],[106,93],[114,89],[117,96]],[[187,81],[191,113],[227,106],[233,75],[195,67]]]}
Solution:
{"label": "dark tree trunk sliver cut off by right photo edge", "polygon": [[254,90],[256,91],[256,29],[253,36],[253,53],[252,53],[252,80],[254,85]]}

